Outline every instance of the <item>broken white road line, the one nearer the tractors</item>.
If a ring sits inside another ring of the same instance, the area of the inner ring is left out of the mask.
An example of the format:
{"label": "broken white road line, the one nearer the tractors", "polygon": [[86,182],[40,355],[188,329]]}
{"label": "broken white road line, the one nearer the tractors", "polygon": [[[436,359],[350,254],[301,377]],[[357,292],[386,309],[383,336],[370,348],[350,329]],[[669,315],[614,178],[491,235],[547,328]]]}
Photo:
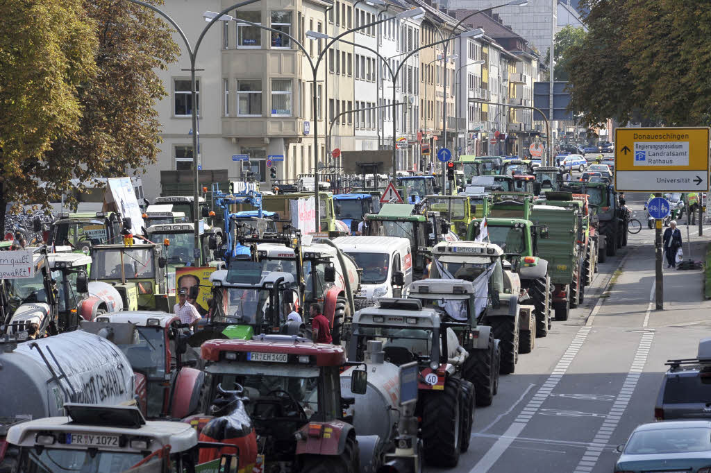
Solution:
{"label": "broken white road line, the one nearer the tractors", "polygon": [[520,434],[526,424],[528,424],[528,421],[531,419],[533,414],[538,411],[541,403],[550,395],[550,391],[557,386],[558,382],[562,378],[562,375],[565,374],[568,364],[570,364],[570,359],[573,359],[582,347],[582,344],[585,342],[590,329],[591,327],[579,328],[577,334],[573,338],[573,341],[563,354],[563,357],[567,357],[567,359],[563,359],[561,357],[558,364],[555,365],[555,368],[553,369],[553,374],[548,376],[547,381],[545,381],[545,383],[538,388],[538,391],[535,393],[533,398],[528,401],[528,404],[526,404],[525,412],[521,411],[521,413],[518,414],[513,423],[508,429],[506,429],[506,432],[503,433],[501,437],[498,437],[496,442],[494,442],[488,452],[486,452],[486,455],[481,457],[481,460],[474,465],[474,468],[471,469],[470,473],[486,473],[491,469],[491,467],[493,467],[493,464],[501,458],[503,452],[505,452],[511,443],[516,440],[516,437],[518,437],[518,434]]}

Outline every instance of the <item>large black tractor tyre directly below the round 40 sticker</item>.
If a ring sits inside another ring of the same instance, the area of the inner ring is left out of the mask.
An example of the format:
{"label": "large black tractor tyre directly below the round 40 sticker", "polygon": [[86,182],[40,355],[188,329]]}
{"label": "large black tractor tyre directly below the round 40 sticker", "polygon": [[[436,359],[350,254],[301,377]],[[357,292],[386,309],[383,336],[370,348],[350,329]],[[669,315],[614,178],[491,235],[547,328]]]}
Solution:
{"label": "large black tractor tyre directly below the round 40 sticker", "polygon": [[456,467],[461,453],[462,412],[459,380],[447,379],[443,391],[431,391],[422,406],[424,461],[434,467]]}

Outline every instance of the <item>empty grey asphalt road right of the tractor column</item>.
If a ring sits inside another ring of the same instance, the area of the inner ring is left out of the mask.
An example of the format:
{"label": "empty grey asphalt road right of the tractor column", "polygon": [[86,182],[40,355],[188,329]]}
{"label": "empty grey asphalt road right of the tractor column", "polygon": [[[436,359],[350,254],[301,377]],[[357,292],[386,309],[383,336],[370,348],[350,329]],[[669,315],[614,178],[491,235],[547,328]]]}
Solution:
{"label": "empty grey asphalt road right of the tractor column", "polygon": [[[664,270],[665,310],[654,310],[654,230],[642,210],[646,195],[627,196],[643,229],[602,263],[582,307],[553,322],[515,374],[501,377],[492,406],[476,411],[469,451],[449,472],[612,472],[614,449],[634,428],[653,421],[670,358],[695,357],[711,336],[711,304],[700,271]],[[686,228],[683,231],[684,251]],[[691,250],[702,259],[708,237]],[[711,227],[705,229],[711,235]]]}

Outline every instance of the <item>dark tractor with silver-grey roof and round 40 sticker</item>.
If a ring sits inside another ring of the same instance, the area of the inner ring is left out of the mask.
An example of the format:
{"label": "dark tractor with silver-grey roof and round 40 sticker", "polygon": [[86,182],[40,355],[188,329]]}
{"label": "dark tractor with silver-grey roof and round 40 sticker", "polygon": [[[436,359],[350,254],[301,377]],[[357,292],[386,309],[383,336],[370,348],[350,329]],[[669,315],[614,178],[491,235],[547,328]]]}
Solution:
{"label": "dark tractor with silver-grey roof and round 40 sticker", "polygon": [[[372,342],[380,340],[390,363],[417,365],[415,415],[422,456],[438,467],[456,466],[461,452],[468,450],[476,402],[474,386],[461,374],[469,353],[451,330],[454,323],[442,322],[439,312],[423,308],[420,300],[381,298],[377,306],[355,313],[348,344],[351,362],[364,361]],[[382,409],[375,411],[380,414],[370,422],[383,422]]]}

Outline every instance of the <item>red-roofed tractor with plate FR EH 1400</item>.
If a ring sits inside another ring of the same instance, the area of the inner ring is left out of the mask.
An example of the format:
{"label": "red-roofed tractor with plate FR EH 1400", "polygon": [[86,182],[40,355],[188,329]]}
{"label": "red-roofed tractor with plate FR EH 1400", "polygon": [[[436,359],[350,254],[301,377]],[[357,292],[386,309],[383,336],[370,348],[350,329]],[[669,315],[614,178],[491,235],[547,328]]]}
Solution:
{"label": "red-roofed tractor with plate FR EH 1400", "polygon": [[[343,415],[343,409],[355,403],[341,395],[341,369],[346,366],[343,347],[296,336],[258,335],[208,340],[202,344],[201,358],[210,378],[209,402],[220,389],[235,383],[242,388],[263,471],[359,471],[353,420]],[[362,395],[368,374],[358,373],[353,375],[358,379],[351,384],[351,392]]]}

